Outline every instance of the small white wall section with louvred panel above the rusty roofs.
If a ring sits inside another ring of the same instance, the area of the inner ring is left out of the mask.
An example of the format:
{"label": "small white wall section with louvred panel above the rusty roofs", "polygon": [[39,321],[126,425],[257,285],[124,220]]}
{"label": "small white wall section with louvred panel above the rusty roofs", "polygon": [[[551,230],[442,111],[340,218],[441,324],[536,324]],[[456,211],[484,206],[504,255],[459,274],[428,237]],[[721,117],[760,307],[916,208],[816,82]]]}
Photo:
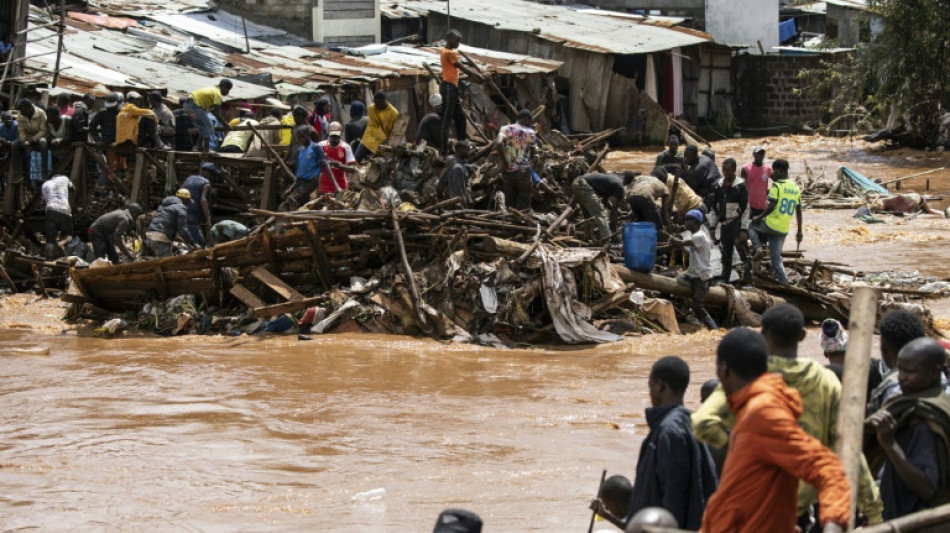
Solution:
{"label": "small white wall section with louvred panel above the rusty roofs", "polygon": [[379,0],[313,0],[313,40],[330,46],[378,43]]}

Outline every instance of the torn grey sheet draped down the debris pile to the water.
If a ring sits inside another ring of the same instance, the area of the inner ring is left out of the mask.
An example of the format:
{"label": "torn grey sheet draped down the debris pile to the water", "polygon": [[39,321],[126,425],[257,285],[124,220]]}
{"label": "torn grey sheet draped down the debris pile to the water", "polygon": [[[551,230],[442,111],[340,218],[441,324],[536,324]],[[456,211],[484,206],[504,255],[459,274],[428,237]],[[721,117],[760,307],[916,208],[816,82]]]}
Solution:
{"label": "torn grey sheet draped down the debris pile to the water", "polygon": [[568,344],[587,342],[614,342],[622,337],[595,328],[581,318],[577,302],[577,284],[574,274],[558,264],[545,245],[538,246],[538,258],[541,261],[542,291],[548,312],[561,340]]}

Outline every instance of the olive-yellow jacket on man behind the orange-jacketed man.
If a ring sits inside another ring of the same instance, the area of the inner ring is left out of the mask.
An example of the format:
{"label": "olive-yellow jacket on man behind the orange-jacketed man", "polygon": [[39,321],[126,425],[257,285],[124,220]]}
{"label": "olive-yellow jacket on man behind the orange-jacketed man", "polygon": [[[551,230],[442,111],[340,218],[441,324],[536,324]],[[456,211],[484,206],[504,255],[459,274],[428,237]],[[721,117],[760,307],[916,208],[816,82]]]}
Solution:
{"label": "olive-yellow jacket on man behind the orange-jacketed man", "polygon": [[[769,372],[778,372],[789,387],[802,396],[803,412],[798,425],[830,449],[834,449],[835,427],[838,425],[838,404],[841,401],[841,383],[828,369],[814,361],[769,357]],[[722,386],[706,398],[693,413],[693,431],[696,438],[717,448],[729,443],[729,432],[736,423],[729,409]],[[807,511],[818,499],[815,488],[807,483],[798,486],[798,512]],[[884,504],[874,483],[864,456],[861,456],[861,477],[858,482],[858,509],[872,524],[884,520]]]}

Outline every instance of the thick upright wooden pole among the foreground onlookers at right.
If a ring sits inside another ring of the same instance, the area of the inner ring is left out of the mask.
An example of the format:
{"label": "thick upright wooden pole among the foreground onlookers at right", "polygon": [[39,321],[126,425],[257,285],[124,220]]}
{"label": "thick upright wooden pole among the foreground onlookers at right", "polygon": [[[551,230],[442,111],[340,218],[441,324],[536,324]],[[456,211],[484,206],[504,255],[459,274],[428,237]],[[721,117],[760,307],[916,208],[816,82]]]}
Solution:
{"label": "thick upright wooden pole among the foreground onlookers at right", "polygon": [[874,340],[874,324],[877,320],[878,297],[878,292],[873,288],[859,287],[851,298],[848,350],[844,358],[838,427],[835,428],[835,452],[844,464],[848,483],[851,486],[849,530],[854,529],[858,479],[861,475],[867,383],[871,365],[871,344]]}

